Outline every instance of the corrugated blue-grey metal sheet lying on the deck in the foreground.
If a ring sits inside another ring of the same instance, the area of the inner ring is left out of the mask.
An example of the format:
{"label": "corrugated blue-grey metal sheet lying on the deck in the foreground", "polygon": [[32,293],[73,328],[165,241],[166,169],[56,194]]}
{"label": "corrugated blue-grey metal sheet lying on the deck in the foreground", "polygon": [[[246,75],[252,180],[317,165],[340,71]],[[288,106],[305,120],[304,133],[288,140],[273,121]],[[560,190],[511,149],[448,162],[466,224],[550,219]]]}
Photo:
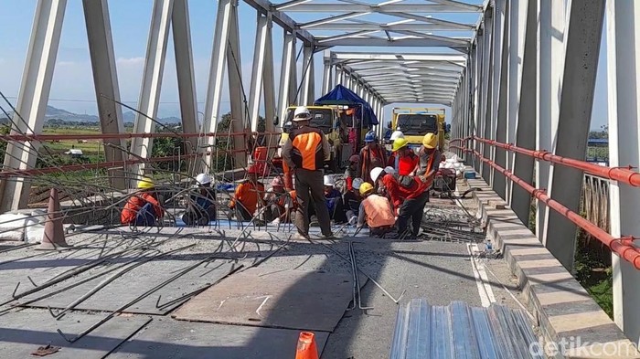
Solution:
{"label": "corrugated blue-grey metal sheet lying on the deck in the foreground", "polygon": [[525,314],[503,305],[472,308],[464,301],[433,306],[424,299],[400,304],[390,359],[542,358]]}

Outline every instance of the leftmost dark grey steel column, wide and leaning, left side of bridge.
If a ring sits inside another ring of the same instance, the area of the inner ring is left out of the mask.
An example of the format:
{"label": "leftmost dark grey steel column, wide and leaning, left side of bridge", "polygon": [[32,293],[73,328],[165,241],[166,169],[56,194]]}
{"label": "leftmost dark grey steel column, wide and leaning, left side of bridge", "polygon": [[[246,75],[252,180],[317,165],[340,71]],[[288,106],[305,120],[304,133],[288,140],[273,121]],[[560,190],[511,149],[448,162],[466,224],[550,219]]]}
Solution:
{"label": "leftmost dark grey steel column, wide and leaning, left side of bridge", "polygon": [[[113,54],[112,30],[109,21],[109,6],[107,0],[82,1],[84,21],[87,26],[89,40],[89,54],[93,85],[98,103],[98,117],[102,133],[123,133],[123,110],[120,104],[120,90],[118,88],[118,73],[115,68]],[[121,162],[126,160],[126,141],[123,139],[102,140],[104,157],[107,162]],[[108,170],[109,182],[112,187],[125,189],[127,187],[125,169]]]}

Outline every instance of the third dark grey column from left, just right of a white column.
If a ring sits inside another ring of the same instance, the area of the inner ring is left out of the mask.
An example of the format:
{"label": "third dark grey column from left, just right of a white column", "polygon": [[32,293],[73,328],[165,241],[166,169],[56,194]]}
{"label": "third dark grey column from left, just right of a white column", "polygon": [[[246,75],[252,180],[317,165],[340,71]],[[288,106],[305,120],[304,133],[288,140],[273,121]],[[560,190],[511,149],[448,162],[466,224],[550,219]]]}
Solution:
{"label": "third dark grey column from left, just right of a white column", "polygon": [[[231,102],[231,132],[246,132],[247,121],[244,88],[242,87],[242,61],[240,59],[240,27],[238,25],[238,4],[231,7],[229,18],[229,47],[227,48],[227,75],[229,75],[229,101]],[[247,148],[246,138],[233,136],[233,149]],[[251,152],[251,148],[248,149]],[[247,153],[234,152],[234,167],[247,165]]]}

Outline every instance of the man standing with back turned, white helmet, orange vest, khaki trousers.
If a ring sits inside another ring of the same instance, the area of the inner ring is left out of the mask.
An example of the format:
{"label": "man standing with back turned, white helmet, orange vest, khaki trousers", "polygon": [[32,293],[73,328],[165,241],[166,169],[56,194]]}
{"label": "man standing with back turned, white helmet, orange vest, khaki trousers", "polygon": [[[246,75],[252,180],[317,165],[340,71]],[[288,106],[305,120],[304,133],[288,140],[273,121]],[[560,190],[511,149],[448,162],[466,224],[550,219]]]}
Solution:
{"label": "man standing with back turned, white helmet, orange vest, khaki trousers", "polygon": [[331,155],[325,134],[310,127],[311,113],[300,106],[293,112],[296,128],[283,145],[283,160],[293,170],[298,203],[295,227],[303,238],[309,238],[309,202],[313,198],[318,224],[325,238],[334,238],[323,191],[323,167]]}

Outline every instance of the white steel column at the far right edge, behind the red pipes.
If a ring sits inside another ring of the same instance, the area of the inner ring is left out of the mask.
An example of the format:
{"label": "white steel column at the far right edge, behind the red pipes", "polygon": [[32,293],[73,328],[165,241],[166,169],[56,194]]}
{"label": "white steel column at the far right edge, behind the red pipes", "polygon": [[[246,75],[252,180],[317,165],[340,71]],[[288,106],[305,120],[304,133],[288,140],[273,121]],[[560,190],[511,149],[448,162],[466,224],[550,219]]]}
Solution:
{"label": "white steel column at the far right edge, behind the red pipes", "polygon": [[[635,2],[607,1],[609,165],[612,167],[640,164],[639,43],[640,6]],[[611,181],[609,198],[613,238],[640,233],[637,219],[637,214],[640,213],[640,191]],[[612,254],[612,263],[613,319],[633,343],[638,343],[640,271],[615,254]]]}

